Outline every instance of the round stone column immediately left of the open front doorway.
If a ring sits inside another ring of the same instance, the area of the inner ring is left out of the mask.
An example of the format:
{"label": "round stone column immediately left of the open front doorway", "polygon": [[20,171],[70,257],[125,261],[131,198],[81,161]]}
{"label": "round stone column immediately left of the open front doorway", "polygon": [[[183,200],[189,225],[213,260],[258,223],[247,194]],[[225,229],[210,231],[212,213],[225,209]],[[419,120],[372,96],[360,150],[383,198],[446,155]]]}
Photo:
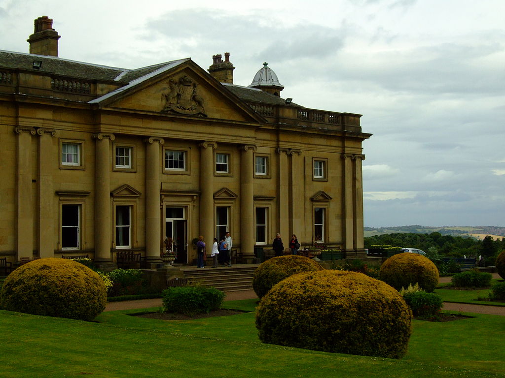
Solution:
{"label": "round stone column immediately left of the open front doorway", "polygon": [[146,139],[145,151],[145,260],[161,263],[160,146],[163,138]]}

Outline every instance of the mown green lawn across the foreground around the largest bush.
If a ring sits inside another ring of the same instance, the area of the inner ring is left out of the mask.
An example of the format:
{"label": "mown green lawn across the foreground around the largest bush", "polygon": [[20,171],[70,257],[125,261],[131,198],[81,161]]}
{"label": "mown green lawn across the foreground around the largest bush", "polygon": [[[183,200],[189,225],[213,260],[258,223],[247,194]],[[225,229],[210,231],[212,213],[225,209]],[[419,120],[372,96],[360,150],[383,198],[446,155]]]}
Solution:
{"label": "mown green lawn across the foreground around the largest bush", "polygon": [[[251,310],[256,300],[225,302]],[[156,308],[150,310],[157,310]],[[109,377],[495,377],[505,374],[505,319],[414,321],[402,360],[262,344],[254,312],[164,322],[104,312],[98,323],[0,311],[4,378]]]}

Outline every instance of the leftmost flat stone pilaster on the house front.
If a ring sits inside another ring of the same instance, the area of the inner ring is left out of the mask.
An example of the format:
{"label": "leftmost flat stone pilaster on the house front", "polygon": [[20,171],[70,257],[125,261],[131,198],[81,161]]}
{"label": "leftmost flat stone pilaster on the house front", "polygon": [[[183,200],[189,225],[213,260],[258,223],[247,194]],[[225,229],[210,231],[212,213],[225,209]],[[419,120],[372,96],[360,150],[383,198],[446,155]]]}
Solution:
{"label": "leftmost flat stone pilaster on the house front", "polygon": [[22,257],[33,258],[33,198],[32,198],[32,159],[31,143],[35,129],[17,127],[17,204],[16,204],[16,251],[17,260]]}

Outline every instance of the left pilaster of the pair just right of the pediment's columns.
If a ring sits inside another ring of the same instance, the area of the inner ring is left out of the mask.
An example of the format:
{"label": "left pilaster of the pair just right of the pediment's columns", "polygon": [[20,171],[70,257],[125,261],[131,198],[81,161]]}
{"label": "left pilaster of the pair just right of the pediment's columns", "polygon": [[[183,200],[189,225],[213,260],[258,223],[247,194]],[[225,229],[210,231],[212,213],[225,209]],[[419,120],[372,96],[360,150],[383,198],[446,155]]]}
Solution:
{"label": "left pilaster of the pair just right of the pediment's columns", "polygon": [[277,202],[279,229],[275,233],[280,232],[284,247],[287,248],[291,238],[289,235],[289,171],[287,161],[290,152],[287,148],[278,148],[277,153],[279,154],[279,201]]}

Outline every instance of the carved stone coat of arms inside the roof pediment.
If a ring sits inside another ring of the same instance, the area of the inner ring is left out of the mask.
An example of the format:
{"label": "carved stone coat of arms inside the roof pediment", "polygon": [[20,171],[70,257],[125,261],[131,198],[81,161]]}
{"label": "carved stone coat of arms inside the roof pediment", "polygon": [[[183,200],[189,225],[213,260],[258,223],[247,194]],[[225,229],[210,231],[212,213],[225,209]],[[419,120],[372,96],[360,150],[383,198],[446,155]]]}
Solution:
{"label": "carved stone coat of arms inside the roof pediment", "polygon": [[178,81],[170,79],[168,88],[162,92],[165,102],[162,113],[179,113],[207,117],[204,109],[204,99],[198,95],[198,84],[187,75]]}

